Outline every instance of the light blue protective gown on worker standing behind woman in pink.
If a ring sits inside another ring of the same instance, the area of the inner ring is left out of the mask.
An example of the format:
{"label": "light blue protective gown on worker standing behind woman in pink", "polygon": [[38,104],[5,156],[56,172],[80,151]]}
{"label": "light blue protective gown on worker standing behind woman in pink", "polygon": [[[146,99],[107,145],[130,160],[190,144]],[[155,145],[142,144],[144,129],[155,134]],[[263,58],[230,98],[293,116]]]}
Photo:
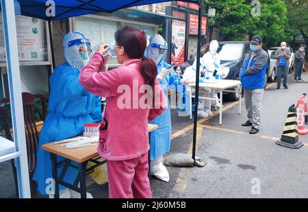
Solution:
{"label": "light blue protective gown on worker standing behind woman in pink", "polygon": [[[159,73],[162,68],[167,68],[168,64],[166,62],[161,62],[157,65],[157,73]],[[169,85],[181,85],[181,78],[175,75],[175,71],[169,72],[167,77],[164,77],[162,80],[159,80],[164,94],[168,98],[168,88]],[[151,124],[158,125],[158,129],[151,132],[151,160],[157,159],[158,157],[168,153],[170,151],[170,141],[171,141],[171,115],[170,115],[170,103],[168,100],[168,108],[164,111],[163,114],[155,118]]]}

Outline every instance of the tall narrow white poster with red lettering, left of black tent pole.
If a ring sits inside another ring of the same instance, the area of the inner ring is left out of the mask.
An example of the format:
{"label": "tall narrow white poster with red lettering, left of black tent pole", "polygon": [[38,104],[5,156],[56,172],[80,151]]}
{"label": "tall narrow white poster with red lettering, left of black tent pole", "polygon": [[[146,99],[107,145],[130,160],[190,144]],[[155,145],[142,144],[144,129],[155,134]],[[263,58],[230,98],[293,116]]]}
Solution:
{"label": "tall narrow white poster with red lettering, left of black tent pole", "polygon": [[171,63],[185,62],[185,21],[172,20]]}

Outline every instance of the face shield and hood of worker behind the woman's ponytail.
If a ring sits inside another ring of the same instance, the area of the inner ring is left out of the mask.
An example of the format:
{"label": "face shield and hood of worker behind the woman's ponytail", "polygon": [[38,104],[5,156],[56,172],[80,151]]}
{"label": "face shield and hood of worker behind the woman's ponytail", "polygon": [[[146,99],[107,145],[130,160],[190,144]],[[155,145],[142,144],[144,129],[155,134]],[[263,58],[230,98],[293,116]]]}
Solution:
{"label": "face shield and hood of worker behind the woman's ponytail", "polygon": [[166,40],[161,35],[155,35],[150,38],[149,47],[146,56],[153,59],[155,64],[159,66],[164,62],[165,52],[168,49]]}

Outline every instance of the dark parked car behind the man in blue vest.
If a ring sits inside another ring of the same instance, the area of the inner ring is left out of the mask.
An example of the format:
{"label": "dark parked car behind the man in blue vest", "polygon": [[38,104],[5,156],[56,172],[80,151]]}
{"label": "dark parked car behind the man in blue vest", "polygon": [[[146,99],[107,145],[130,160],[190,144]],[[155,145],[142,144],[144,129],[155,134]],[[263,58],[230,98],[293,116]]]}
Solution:
{"label": "dark parked car behind the man in blue vest", "polygon": [[[220,55],[220,66],[224,68],[229,68],[229,74],[224,79],[239,80],[240,79],[239,77],[240,69],[244,62],[244,57],[246,53],[250,51],[251,42],[249,41],[223,41],[223,42],[218,42],[218,44],[219,44],[218,53]],[[263,45],[262,48],[266,52],[268,52],[265,45]],[[194,55],[192,58],[196,59],[196,55]],[[190,64],[192,64],[193,62],[194,60],[190,62]],[[185,68],[187,67],[183,67],[182,72],[185,72]],[[267,83],[267,77],[272,74],[272,72],[270,71],[272,70],[270,70],[270,62],[268,62],[265,83]],[[239,91],[240,85],[236,88],[233,88],[232,90]],[[231,101],[238,101],[240,98],[239,93],[226,93],[226,94],[228,95],[228,98]]]}

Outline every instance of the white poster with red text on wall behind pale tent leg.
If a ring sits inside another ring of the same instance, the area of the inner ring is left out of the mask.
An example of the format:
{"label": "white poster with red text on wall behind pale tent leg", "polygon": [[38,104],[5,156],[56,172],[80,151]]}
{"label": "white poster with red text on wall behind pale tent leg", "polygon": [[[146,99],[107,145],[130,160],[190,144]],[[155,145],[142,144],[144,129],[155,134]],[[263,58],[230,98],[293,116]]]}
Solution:
{"label": "white poster with red text on wall behind pale tent leg", "polygon": [[[5,42],[0,17],[0,61],[5,62]],[[48,60],[44,21],[27,16],[16,16],[18,56],[20,61]]]}

